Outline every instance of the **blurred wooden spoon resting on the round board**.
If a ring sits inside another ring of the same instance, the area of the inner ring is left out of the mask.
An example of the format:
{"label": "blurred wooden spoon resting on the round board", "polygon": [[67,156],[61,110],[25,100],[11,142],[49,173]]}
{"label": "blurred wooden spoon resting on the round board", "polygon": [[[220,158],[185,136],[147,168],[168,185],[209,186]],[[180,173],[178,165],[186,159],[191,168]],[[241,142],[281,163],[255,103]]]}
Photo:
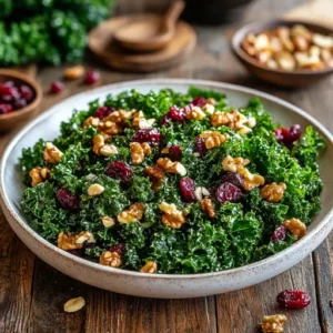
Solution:
{"label": "blurred wooden spoon resting on the round board", "polygon": [[183,0],[175,0],[163,17],[157,14],[134,19],[133,22],[117,30],[113,37],[130,50],[154,51],[162,49],[174,36],[175,23],[184,7]]}

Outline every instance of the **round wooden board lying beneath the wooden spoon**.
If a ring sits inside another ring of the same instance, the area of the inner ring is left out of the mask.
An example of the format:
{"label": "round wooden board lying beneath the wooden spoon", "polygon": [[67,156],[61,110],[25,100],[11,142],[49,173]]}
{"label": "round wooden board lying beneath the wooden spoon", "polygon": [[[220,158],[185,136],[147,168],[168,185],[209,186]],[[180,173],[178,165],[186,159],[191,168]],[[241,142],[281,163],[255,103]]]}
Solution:
{"label": "round wooden board lying beneath the wooden spoon", "polygon": [[174,38],[164,49],[147,53],[128,51],[113,39],[112,32],[127,24],[131,18],[120,17],[108,20],[89,36],[90,50],[114,69],[152,72],[170,68],[189,57],[196,44],[194,29],[190,24],[180,21]]}

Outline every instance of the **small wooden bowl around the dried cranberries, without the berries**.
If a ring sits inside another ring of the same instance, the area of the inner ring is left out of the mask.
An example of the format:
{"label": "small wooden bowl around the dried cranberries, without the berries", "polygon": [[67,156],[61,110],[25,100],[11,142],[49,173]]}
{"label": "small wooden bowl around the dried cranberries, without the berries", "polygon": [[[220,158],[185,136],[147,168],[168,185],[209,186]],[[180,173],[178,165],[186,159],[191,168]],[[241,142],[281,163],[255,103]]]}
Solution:
{"label": "small wooden bowl around the dried cranberries, without the berries", "polygon": [[24,108],[17,111],[0,114],[0,132],[9,131],[31,118],[38,111],[38,105],[42,100],[42,90],[40,85],[31,78],[16,70],[0,70],[0,83],[13,81],[18,84],[27,84],[34,92],[34,99]]}

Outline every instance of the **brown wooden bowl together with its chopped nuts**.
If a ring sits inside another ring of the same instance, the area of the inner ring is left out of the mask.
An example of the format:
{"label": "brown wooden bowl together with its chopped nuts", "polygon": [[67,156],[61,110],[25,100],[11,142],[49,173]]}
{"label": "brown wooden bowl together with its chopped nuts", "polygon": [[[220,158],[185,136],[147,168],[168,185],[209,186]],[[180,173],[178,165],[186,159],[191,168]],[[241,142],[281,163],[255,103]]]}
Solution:
{"label": "brown wooden bowl together with its chopped nuts", "polygon": [[241,28],[232,49],[249,72],[283,87],[306,87],[333,72],[333,30],[275,20]]}

